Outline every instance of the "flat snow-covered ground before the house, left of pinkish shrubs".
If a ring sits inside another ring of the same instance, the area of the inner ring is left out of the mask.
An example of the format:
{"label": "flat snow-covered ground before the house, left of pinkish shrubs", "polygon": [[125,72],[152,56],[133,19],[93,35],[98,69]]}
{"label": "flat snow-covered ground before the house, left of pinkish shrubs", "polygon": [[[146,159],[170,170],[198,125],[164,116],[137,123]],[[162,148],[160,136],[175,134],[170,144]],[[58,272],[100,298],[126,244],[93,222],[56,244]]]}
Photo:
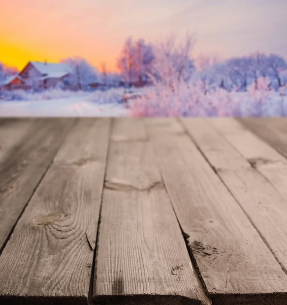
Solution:
{"label": "flat snow-covered ground before the house, left of pinkish shrubs", "polygon": [[124,116],[121,92],[25,94],[18,99],[0,100],[0,116]]}

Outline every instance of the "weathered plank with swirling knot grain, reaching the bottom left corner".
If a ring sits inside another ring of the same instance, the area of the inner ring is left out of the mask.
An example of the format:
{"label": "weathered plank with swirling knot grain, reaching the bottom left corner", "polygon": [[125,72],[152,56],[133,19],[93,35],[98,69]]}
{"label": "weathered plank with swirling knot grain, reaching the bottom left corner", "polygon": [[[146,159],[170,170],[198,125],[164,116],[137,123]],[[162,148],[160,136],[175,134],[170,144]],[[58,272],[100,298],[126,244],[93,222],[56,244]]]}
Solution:
{"label": "weathered plank with swirling knot grain, reaching the bottom left corner", "polygon": [[80,119],[0,257],[1,304],[86,304],[110,120]]}

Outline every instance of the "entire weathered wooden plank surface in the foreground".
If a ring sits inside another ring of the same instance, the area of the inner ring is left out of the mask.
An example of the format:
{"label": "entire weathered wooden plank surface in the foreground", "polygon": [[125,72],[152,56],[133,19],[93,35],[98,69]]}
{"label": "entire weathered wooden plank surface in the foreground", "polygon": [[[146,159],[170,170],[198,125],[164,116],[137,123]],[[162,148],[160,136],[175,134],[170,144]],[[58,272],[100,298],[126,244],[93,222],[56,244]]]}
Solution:
{"label": "entire weathered wooden plank surface in the foreground", "polygon": [[0,304],[286,304],[286,131],[0,119]]}

